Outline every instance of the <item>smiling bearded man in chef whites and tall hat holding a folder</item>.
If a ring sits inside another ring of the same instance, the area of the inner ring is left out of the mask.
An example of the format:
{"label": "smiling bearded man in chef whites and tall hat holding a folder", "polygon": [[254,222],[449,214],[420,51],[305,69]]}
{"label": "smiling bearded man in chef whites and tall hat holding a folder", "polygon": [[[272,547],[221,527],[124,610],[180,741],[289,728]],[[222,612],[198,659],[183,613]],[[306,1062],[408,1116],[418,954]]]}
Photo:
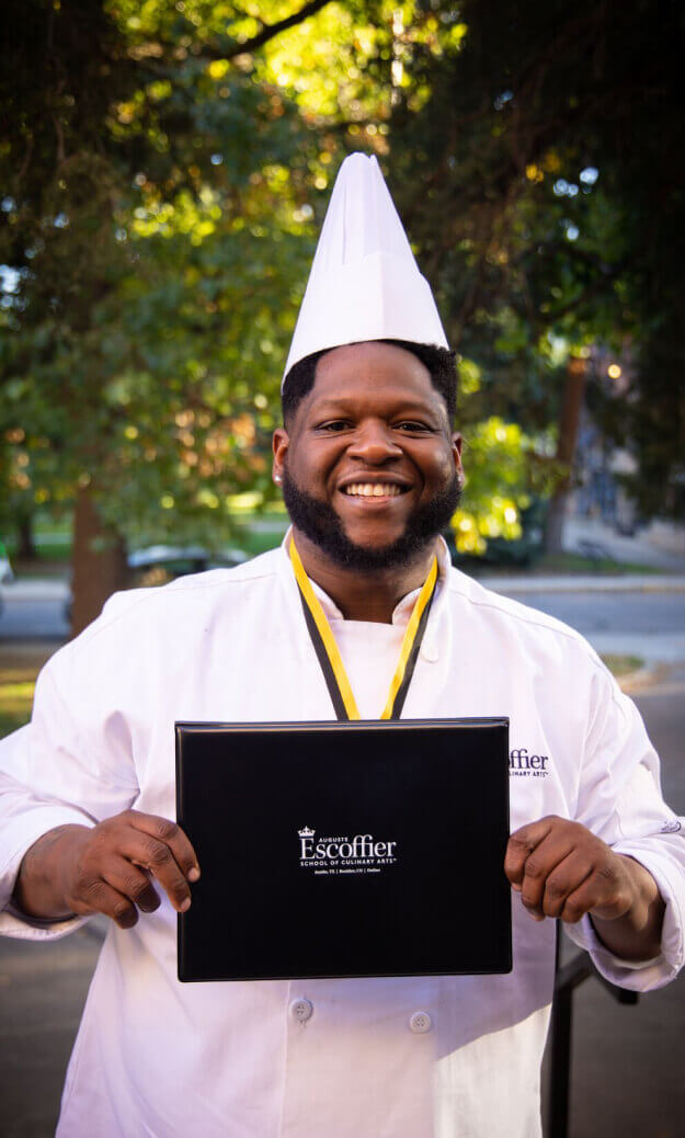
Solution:
{"label": "smiling bearded man in chef whites and tall hat holding a folder", "polygon": [[[5,744],[5,931],[113,918],[63,1138],[530,1138],[550,918],[627,987],[658,987],[683,963],[685,849],[635,708],[571,629],[449,567],[438,535],[463,478],[449,353],[375,165],[346,167],[274,435],[283,547],[112,599],[48,663],[32,725]],[[403,716],[511,719],[512,973],[180,986],[174,910],[201,866],[170,820],[174,720],[332,718],[292,559],[356,712],[378,718],[436,556]]]}

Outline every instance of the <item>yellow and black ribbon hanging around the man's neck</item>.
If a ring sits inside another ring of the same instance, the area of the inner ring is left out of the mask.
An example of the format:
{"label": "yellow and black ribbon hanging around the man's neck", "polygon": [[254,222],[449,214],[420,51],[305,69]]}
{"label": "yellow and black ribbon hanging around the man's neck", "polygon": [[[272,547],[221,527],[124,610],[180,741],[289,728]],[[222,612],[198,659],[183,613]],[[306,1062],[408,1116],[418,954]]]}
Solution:
{"label": "yellow and black ribbon hanging around the man's neck", "polygon": [[[361,719],[336,637],[321,607],[321,602],[312,587],[312,582],[305,572],[292,538],[290,538],[290,561],[295,570],[295,579],[299,588],[307,628],[310,629],[312,643],[328,684],[336,714],[339,719]],[[414,671],[416,657],[419,655],[437,579],[438,560],[434,558],[428,577],[423,582],[421,592],[416,597],[404,634],[395,675],[390,681],[386,706],[380,715],[381,719],[399,718]]]}

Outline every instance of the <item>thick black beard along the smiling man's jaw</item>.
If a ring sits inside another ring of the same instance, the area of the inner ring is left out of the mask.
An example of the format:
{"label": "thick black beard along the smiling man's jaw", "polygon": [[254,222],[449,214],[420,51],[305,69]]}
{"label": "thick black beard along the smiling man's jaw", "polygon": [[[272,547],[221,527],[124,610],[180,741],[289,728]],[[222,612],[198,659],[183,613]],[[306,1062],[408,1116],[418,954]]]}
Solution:
{"label": "thick black beard along the smiling man's jaw", "polygon": [[282,490],[292,525],[335,564],[357,572],[396,569],[412,562],[447,528],[461,500],[461,484],[455,471],[444,490],[430,502],[418,506],[407,518],[401,537],[389,545],[368,547],[352,542],[333,508],[300,489],[290,478],[287,468],[283,468]]}

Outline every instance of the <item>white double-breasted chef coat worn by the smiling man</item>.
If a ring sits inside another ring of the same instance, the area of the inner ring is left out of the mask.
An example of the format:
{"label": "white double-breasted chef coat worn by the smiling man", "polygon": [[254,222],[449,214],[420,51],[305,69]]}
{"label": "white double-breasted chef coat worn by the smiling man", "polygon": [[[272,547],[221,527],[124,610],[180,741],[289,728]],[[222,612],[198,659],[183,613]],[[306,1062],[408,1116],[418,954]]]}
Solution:
{"label": "white double-breasted chef coat worn by the smiling man", "polygon": [[[360,638],[319,595],[363,714],[378,715],[412,597],[394,626],[364,626]],[[363,642],[372,640],[370,668]],[[510,717],[512,828],[547,814],[575,818],[650,869],[667,902],[660,957],[621,964],[587,921],[572,935],[614,982],[643,991],[670,980],[684,956],[685,842],[637,710],[578,634],[457,572],[445,549],[404,708],[405,718],[441,716]],[[284,549],[117,594],[48,662],[31,725],[0,744],[0,907],[24,852],[52,826],[129,807],[174,817],[175,719],[331,718]],[[512,901],[513,971],[498,976],[180,984],[166,898],[132,930],[112,923],[58,1135],[539,1135],[554,922]],[[469,935],[468,913],[463,922]],[[26,938],[77,924],[0,915],[0,931]]]}

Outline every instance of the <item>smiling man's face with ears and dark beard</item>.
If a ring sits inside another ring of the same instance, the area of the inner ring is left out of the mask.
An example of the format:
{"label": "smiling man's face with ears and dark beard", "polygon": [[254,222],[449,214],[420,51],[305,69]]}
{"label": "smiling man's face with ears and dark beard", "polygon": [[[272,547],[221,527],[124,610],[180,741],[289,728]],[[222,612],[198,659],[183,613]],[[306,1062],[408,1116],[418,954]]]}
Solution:
{"label": "smiling man's face with ears and dark beard", "polygon": [[382,343],[321,357],[289,430],[274,435],[274,475],[294,525],[347,568],[401,564],[454,513],[461,438],[416,356]]}

